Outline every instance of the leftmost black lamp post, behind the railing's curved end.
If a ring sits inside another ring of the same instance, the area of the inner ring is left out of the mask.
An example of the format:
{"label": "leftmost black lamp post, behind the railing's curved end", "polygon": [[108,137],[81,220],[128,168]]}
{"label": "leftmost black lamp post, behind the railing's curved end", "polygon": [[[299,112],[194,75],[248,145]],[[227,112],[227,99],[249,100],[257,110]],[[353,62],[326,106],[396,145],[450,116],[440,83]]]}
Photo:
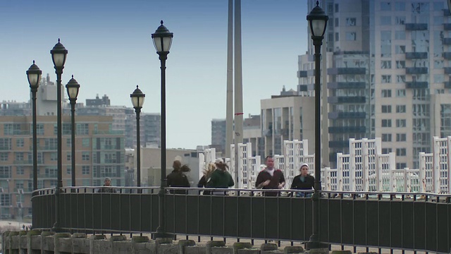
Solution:
{"label": "leftmost black lamp post, behind the railing's curved end", "polygon": [[37,67],[35,61],[28,68],[27,78],[30,84],[32,99],[32,117],[33,117],[33,191],[37,190],[37,133],[36,133],[36,92],[41,81],[42,71]]}

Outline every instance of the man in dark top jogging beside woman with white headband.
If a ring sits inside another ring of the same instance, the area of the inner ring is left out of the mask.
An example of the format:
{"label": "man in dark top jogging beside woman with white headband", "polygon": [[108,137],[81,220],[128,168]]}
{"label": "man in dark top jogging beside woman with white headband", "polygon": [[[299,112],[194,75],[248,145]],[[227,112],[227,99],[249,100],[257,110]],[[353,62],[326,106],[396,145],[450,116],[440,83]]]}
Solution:
{"label": "man in dark top jogging beside woman with white headband", "polygon": [[[280,169],[274,169],[274,158],[271,155],[266,156],[266,169],[260,171],[255,181],[256,188],[262,189],[281,189],[285,186],[285,177]],[[265,191],[263,195],[277,196],[278,191]]]}

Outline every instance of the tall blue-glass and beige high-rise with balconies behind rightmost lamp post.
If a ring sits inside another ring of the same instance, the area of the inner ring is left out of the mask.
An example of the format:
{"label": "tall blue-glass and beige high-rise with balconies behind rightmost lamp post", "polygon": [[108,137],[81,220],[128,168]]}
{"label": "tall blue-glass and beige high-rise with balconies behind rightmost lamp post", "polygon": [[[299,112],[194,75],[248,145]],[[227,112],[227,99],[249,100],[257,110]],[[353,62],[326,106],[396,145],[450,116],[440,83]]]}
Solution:
{"label": "tall blue-glass and beige high-rise with balconies behind rightmost lamp post", "polygon": [[[311,10],[316,1],[309,0]],[[434,135],[451,134],[451,17],[445,0],[326,0],[321,49],[323,162],[349,138],[383,140],[397,169],[418,167]],[[299,94],[314,95],[314,47],[299,56]],[[324,154],[323,150],[323,154]],[[327,162],[328,161],[328,162]]]}

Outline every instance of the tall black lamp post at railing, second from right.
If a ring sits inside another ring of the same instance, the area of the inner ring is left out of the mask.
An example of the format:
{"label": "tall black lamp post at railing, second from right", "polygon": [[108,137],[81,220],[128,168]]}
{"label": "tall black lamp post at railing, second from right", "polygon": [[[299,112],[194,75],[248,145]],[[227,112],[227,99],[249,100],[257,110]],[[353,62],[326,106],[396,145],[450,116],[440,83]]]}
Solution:
{"label": "tall black lamp post at railing, second from right", "polygon": [[168,59],[169,49],[171,49],[173,33],[168,28],[161,25],[152,34],[156,54],[159,54],[161,62],[161,183],[159,191],[159,226],[156,228],[154,238],[172,238],[166,233],[164,222],[164,195],[166,187],[166,59]]}

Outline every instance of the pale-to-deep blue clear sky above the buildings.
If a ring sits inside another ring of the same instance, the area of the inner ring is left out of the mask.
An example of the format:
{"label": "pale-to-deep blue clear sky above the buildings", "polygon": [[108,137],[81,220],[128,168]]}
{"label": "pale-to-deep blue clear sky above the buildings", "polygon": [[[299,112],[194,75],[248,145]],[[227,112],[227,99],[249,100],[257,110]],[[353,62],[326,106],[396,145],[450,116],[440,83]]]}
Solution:
{"label": "pale-to-deep blue clear sky above the buildings", "polygon": [[[63,85],[80,83],[78,102],[108,95],[160,113],[160,62],[151,35],[160,20],[174,33],[166,61],[167,146],[211,143],[211,119],[226,118],[227,0],[0,1],[0,101],[30,98],[25,71],[35,60],[56,79],[50,50],[68,49]],[[243,111],[296,89],[297,56],[307,51],[307,1],[242,0]],[[13,87],[13,89],[11,89]]]}

